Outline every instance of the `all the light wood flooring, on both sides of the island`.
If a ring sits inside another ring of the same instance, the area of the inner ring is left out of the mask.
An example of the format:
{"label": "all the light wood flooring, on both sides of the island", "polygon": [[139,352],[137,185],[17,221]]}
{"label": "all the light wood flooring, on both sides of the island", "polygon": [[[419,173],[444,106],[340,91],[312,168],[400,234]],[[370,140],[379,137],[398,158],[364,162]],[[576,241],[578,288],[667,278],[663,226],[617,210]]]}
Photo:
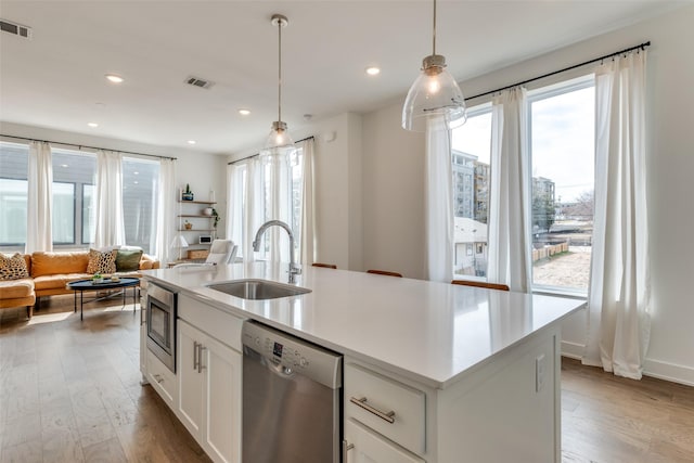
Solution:
{"label": "all the light wood flooring, on both sides of the island", "polygon": [[[140,385],[139,307],[48,299],[0,310],[0,462],[208,462]],[[562,440],[564,463],[694,462],[694,388],[564,359]]]}

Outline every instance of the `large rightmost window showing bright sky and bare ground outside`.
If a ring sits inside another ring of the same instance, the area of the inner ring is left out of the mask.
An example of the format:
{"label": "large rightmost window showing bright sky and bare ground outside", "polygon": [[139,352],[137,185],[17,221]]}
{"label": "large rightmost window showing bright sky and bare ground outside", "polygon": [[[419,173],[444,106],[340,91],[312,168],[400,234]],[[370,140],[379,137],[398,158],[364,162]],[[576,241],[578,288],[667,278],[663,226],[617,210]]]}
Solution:
{"label": "large rightmost window showing bright sky and bare ground outside", "polygon": [[588,291],[594,101],[592,76],[528,93],[535,287]]}

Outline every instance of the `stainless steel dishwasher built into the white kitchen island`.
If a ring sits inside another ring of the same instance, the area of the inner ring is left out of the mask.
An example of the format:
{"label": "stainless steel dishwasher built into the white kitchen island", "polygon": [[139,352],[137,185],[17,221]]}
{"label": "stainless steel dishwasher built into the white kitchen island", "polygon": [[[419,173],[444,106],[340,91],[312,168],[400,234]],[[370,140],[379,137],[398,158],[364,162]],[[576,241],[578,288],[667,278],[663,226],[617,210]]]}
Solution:
{"label": "stainless steel dishwasher built into the white kitchen island", "polygon": [[339,463],[342,356],[244,323],[243,463]]}

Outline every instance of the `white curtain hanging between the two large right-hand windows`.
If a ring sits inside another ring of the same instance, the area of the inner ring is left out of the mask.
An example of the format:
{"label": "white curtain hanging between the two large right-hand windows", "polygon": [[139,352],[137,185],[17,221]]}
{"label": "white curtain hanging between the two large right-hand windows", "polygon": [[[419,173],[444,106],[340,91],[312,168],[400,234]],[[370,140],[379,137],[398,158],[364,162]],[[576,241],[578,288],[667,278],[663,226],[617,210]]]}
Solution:
{"label": "white curtain hanging between the two large right-hand windows", "polygon": [[487,280],[512,291],[531,288],[527,99],[524,88],[494,98]]}

